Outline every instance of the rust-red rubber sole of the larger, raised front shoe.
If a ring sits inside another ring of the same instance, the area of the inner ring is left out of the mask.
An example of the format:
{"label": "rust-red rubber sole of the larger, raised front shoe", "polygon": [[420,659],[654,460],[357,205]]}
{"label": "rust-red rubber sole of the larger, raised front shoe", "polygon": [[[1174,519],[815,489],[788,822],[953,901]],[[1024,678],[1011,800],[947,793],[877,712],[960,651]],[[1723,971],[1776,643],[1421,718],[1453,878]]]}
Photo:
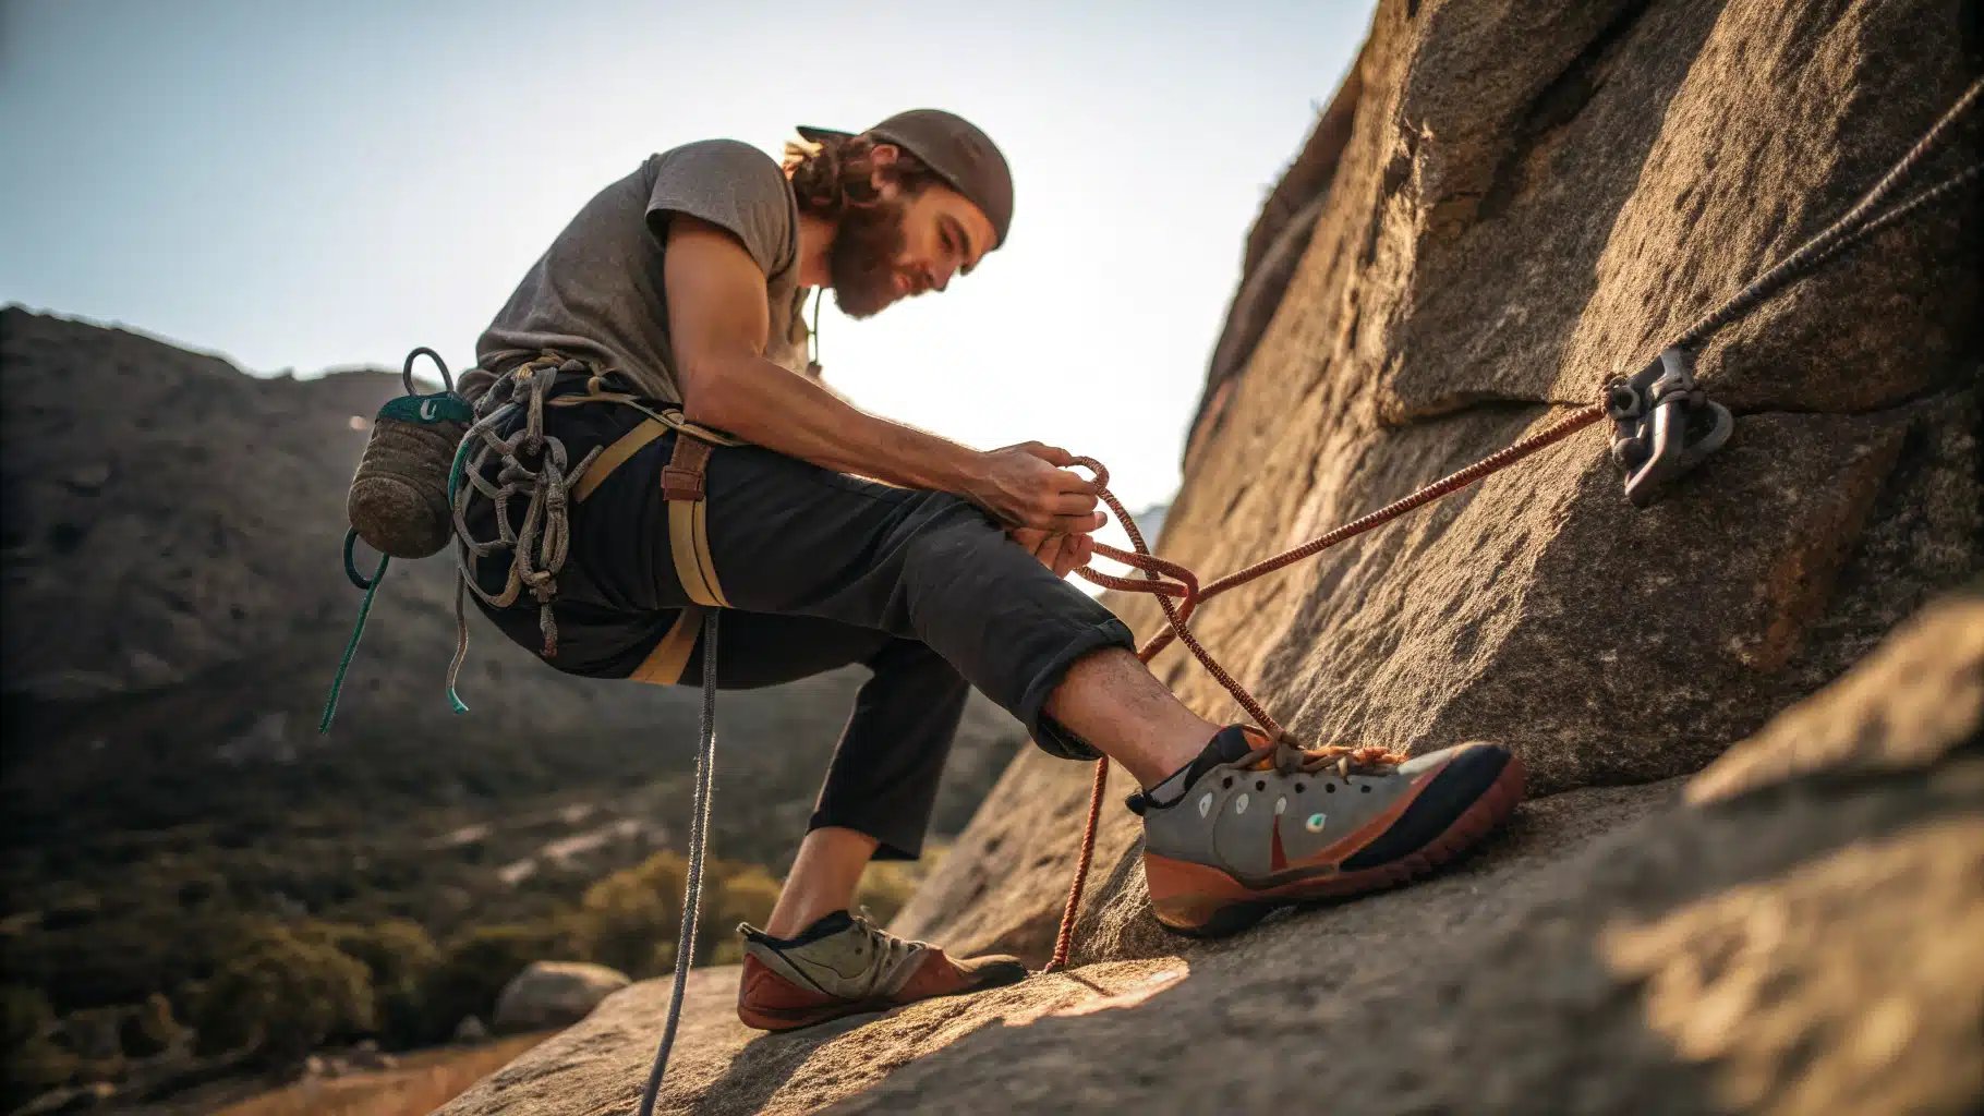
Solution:
{"label": "rust-red rubber sole of the larger, raised front shoe", "polygon": [[1397,888],[1472,848],[1508,819],[1522,801],[1522,759],[1510,755],[1494,783],[1417,850],[1373,868],[1298,880],[1266,892],[1206,864],[1145,852],[1143,870],[1153,884],[1151,892],[1165,892],[1163,900],[1153,898],[1151,904],[1157,924],[1182,938],[1228,938],[1282,908],[1319,906]]}

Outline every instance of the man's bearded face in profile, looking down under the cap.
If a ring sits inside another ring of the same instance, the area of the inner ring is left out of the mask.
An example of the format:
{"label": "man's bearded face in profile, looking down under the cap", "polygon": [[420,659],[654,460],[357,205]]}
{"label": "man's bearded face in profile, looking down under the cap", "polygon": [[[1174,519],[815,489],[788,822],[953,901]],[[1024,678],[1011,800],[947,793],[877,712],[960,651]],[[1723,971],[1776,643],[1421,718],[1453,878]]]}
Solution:
{"label": "man's bearded face in profile, looking down under the cap", "polygon": [[992,220],[984,210],[942,184],[905,194],[883,178],[893,161],[895,147],[875,149],[879,196],[849,206],[833,234],[833,305],[847,317],[869,317],[899,299],[940,291],[992,250]]}

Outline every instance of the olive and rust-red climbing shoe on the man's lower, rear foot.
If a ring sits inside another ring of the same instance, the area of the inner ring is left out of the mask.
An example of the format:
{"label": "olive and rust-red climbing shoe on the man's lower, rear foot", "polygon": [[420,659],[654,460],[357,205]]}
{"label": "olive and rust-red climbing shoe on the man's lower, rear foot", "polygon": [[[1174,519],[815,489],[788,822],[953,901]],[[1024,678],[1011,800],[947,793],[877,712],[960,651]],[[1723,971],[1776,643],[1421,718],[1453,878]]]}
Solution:
{"label": "olive and rust-red climbing shoe on the man's lower, rear foot", "polygon": [[819,918],[798,938],[772,938],[750,924],[740,924],[738,934],[744,936],[738,1019],[760,1031],[792,1031],[1026,979],[1026,965],[1014,957],[952,961],[936,946],[905,942],[845,910]]}

